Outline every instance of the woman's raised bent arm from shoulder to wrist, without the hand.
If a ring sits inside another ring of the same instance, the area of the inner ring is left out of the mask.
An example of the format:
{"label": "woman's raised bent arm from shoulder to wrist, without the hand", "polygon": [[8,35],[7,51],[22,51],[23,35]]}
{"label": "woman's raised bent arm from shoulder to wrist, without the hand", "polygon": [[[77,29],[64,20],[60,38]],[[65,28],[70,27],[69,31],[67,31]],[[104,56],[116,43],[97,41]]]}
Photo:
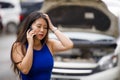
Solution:
{"label": "woman's raised bent arm from shoulder to wrist, without the hand", "polygon": [[54,40],[53,42],[54,51],[64,51],[64,50],[71,49],[73,47],[73,42],[69,39],[69,37],[64,35],[61,31],[57,29],[54,31],[54,34],[59,40],[59,41]]}

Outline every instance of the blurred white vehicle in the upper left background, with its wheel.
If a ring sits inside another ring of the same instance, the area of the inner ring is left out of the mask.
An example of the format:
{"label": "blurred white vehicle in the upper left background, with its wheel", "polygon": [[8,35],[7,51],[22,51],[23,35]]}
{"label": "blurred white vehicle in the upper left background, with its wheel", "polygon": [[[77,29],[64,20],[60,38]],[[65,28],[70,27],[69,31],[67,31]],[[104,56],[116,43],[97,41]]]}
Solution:
{"label": "blurred white vehicle in the upper left background, with its wheel", "polygon": [[5,31],[10,33],[16,32],[20,23],[20,12],[19,0],[0,0],[0,13]]}

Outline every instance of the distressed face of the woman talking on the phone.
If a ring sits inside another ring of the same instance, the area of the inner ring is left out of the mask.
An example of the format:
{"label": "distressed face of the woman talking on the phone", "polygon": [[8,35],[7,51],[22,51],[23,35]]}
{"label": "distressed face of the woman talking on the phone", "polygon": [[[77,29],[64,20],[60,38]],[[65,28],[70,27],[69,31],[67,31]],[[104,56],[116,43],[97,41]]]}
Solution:
{"label": "distressed face of the woman talking on the phone", "polygon": [[48,25],[43,18],[39,18],[35,22],[33,22],[32,29],[36,34],[35,38],[42,40],[47,34],[47,30],[48,30],[47,27]]}

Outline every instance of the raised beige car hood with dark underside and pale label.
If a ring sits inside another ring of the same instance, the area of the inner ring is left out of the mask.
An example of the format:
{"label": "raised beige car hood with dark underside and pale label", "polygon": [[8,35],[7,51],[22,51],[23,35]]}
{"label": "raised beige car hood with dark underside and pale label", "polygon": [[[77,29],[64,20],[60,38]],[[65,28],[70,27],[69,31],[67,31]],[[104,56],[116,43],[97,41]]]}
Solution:
{"label": "raised beige car hood with dark underside and pale label", "polygon": [[40,10],[62,31],[118,37],[118,18],[101,0],[46,0]]}

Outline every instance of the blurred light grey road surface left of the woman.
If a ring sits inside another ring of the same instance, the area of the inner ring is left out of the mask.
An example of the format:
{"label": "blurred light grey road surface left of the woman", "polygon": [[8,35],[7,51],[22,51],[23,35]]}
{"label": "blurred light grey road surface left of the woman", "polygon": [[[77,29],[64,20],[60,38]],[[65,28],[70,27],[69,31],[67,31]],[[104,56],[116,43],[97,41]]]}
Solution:
{"label": "blurred light grey road surface left of the woman", "polygon": [[18,80],[11,68],[10,50],[15,35],[0,35],[0,80]]}

